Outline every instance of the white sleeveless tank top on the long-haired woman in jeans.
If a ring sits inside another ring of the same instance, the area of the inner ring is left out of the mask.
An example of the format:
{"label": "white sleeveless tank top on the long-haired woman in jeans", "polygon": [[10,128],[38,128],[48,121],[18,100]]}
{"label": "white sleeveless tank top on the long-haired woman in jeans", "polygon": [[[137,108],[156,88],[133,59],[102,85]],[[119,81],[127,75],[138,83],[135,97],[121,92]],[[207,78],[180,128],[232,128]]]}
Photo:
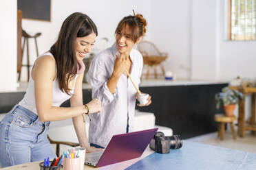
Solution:
{"label": "white sleeveless tank top on the long-haired woman in jeans", "polygon": [[[52,56],[52,53],[46,52],[46,53],[43,53],[41,56],[45,56],[45,55]],[[54,56],[52,56],[52,58],[54,58]],[[78,75],[76,74],[74,78],[74,86],[76,84],[77,77]],[[70,90],[71,94],[74,93],[74,86],[72,90]],[[61,89],[58,86],[58,80],[55,77],[54,81],[52,82],[52,106],[59,107],[64,101],[66,101],[67,99],[70,99],[70,97],[72,97],[72,95],[67,95],[67,93],[63,93],[61,91]],[[30,73],[30,80],[28,82],[28,88],[26,90],[26,93],[23,99],[19,102],[19,105],[37,114],[36,100],[34,96],[34,80],[32,79],[31,73]]]}

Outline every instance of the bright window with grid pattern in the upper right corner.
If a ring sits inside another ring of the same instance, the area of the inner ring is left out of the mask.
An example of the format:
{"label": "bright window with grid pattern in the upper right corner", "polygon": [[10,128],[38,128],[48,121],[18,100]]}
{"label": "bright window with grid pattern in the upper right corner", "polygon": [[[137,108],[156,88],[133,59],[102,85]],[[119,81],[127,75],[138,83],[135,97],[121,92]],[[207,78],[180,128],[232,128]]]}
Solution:
{"label": "bright window with grid pattern in the upper right corner", "polygon": [[226,39],[256,39],[256,0],[226,0]]}

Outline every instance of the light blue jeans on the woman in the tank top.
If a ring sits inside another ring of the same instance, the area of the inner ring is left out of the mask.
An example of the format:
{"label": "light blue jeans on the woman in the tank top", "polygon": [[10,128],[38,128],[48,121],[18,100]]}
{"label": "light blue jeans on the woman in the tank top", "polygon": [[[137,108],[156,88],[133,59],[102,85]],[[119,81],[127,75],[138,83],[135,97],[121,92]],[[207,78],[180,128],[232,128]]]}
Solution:
{"label": "light blue jeans on the woman in the tank top", "polygon": [[16,105],[0,121],[0,165],[9,167],[26,162],[43,160],[56,154],[47,139],[50,122]]}

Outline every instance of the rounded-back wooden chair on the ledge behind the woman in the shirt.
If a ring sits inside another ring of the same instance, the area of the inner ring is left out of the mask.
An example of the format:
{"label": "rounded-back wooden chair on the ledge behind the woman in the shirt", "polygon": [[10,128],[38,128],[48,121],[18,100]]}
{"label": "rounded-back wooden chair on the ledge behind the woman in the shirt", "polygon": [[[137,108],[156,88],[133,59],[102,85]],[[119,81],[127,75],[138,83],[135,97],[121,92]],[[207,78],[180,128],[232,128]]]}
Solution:
{"label": "rounded-back wooden chair on the ledge behind the woman in the shirt", "polygon": [[146,79],[149,78],[149,69],[154,67],[154,74],[155,78],[158,77],[157,74],[157,66],[160,65],[162,74],[165,74],[164,66],[162,65],[162,62],[167,59],[168,54],[162,53],[158,50],[156,45],[153,44],[153,42],[149,41],[142,41],[138,44],[138,51],[142,53],[143,56],[143,62],[145,65],[147,65],[147,73],[146,73]]}

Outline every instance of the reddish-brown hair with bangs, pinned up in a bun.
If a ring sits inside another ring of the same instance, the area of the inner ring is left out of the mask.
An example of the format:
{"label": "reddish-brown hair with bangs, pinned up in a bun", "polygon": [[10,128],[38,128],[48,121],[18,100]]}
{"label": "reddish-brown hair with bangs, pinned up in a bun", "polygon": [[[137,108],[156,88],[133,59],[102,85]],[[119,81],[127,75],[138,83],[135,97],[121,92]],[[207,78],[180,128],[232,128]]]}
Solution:
{"label": "reddish-brown hair with bangs, pinned up in a bun", "polygon": [[140,36],[144,36],[146,33],[147,21],[142,14],[136,14],[134,16],[125,16],[116,27],[115,34],[122,30],[126,25],[129,25],[131,29],[131,39],[136,42]]}

